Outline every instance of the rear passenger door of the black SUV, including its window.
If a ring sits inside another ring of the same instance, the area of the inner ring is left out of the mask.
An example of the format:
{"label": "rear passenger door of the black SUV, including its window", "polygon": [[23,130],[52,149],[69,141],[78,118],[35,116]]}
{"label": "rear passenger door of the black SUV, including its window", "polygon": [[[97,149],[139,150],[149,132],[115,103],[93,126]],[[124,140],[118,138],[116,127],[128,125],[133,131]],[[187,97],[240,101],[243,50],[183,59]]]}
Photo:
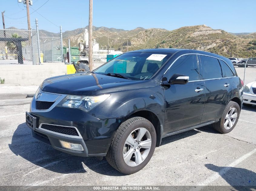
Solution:
{"label": "rear passenger door of the black SUV, including its window", "polygon": [[217,58],[200,55],[200,79],[205,82],[205,104],[201,123],[220,119],[232,95],[232,86]]}

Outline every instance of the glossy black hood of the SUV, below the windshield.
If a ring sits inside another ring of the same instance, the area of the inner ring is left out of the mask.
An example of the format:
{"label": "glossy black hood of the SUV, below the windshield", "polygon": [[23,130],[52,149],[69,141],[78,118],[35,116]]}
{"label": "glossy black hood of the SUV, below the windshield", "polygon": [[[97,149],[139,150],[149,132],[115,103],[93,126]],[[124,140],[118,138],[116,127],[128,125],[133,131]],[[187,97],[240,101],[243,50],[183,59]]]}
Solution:
{"label": "glossy black hood of the SUV, below the windshield", "polygon": [[142,82],[101,74],[78,73],[47,78],[40,89],[57,94],[98,95],[135,88],[132,84]]}

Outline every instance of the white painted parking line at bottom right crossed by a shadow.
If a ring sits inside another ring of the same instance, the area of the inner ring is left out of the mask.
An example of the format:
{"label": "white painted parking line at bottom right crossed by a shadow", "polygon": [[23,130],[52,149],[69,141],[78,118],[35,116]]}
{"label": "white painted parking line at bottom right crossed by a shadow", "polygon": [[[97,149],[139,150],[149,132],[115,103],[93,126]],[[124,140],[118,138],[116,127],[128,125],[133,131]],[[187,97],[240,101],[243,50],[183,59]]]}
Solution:
{"label": "white painted parking line at bottom right crossed by a shadow", "polygon": [[212,175],[211,177],[207,178],[203,183],[199,184],[199,186],[208,186],[210,183],[212,183],[215,180],[217,180],[218,178],[222,177],[232,167],[235,167],[236,165],[238,165],[239,163],[244,161],[246,158],[248,158],[251,155],[253,155],[255,152],[256,152],[256,149],[252,150],[251,152],[248,152],[247,154],[244,154],[243,156],[241,156],[240,158],[238,158],[237,160],[235,160],[231,164],[227,165],[227,167],[223,167],[221,169],[221,171],[215,172],[214,175]]}

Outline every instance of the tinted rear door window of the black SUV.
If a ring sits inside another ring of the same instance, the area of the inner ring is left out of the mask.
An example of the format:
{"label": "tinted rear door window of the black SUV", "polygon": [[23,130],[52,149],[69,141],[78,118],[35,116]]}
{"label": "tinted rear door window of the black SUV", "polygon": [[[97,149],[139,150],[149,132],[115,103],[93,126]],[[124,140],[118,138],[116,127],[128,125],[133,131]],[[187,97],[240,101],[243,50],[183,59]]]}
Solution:
{"label": "tinted rear door window of the black SUV", "polygon": [[200,76],[202,79],[214,79],[214,78],[223,78],[223,72],[221,65],[218,59],[210,56],[200,55],[202,71]]}

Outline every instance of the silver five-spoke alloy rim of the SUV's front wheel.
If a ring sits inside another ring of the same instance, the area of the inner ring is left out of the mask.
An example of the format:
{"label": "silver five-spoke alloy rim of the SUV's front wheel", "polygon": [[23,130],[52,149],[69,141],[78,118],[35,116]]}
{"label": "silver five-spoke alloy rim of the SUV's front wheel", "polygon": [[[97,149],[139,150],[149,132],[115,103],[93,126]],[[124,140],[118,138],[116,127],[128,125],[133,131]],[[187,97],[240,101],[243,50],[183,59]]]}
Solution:
{"label": "silver five-spoke alloy rim of the SUV's front wheel", "polygon": [[141,164],[148,156],[151,143],[151,134],[148,129],[140,127],[132,131],[128,135],[123,149],[125,163],[131,167]]}

